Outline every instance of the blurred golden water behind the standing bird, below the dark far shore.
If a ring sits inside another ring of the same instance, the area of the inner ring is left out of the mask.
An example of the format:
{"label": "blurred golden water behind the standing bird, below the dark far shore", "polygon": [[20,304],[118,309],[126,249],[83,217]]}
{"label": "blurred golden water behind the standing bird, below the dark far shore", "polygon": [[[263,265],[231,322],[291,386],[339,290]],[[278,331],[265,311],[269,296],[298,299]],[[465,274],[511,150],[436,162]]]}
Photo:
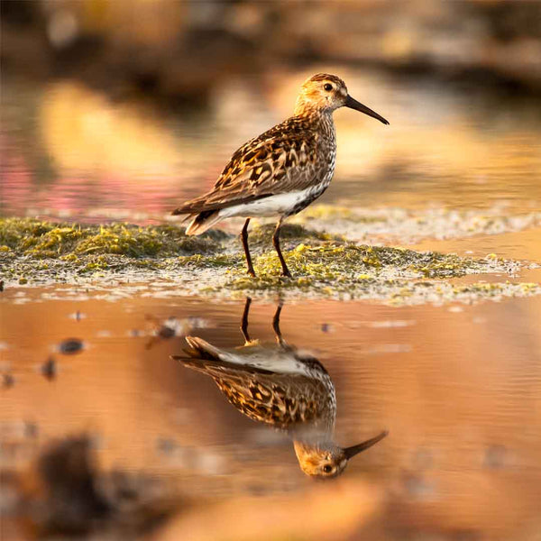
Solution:
{"label": "blurred golden water behind the standing bird, below the dark far shore", "polygon": [[[218,86],[206,110],[117,102],[78,83],[4,85],[2,211],[100,209],[167,213],[209,188],[243,142],[291,114],[314,71],[274,70],[263,81]],[[390,118],[335,115],[335,181],[322,201],[362,206],[541,206],[541,117],[535,98],[504,100],[475,89],[335,71],[353,96]],[[177,203],[175,203],[175,201]]]}

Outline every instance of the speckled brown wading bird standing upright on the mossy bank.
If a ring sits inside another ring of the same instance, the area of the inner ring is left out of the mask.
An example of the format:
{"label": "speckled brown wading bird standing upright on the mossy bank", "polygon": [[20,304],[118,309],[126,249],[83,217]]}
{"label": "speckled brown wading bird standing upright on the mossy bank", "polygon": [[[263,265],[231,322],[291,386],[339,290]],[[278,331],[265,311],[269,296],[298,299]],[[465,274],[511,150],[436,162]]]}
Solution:
{"label": "speckled brown wading bird standing upright on the mossy bank", "polygon": [[290,278],[280,249],[280,227],[287,217],[298,214],[320,197],[333,178],[336,162],[333,113],[339,107],[355,109],[389,124],[353,99],[343,79],[317,73],[300,88],[293,116],[246,142],[234,152],[214,188],[172,212],[187,215],[186,234],[202,234],[231,216],[244,217],[241,240],[248,274],[255,277],[248,225],[253,217],[278,216],[272,243],[282,276]]}

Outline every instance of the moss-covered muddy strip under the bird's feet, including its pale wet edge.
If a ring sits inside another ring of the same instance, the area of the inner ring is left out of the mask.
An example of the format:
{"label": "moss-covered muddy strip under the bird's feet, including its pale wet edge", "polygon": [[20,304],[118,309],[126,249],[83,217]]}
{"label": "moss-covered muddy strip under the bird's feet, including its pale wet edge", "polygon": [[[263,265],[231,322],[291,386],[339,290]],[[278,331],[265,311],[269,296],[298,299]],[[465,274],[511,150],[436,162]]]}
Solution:
{"label": "moss-covered muddy strip under the bird's feet, including its pale wet edge", "polygon": [[[219,231],[188,237],[174,225],[96,226],[4,219],[0,221],[1,275],[6,288],[69,284],[103,291],[115,286],[118,292],[130,294],[141,292],[134,284],[143,284],[160,296],[280,294],[392,304],[472,302],[541,293],[539,284],[515,280],[525,266],[518,261],[369,246],[302,225],[283,228],[284,254],[294,274],[293,279],[284,279],[271,250],[271,231],[271,225],[252,231],[258,274],[252,279],[245,274],[238,239]],[[491,283],[455,280],[472,274],[491,275]]]}

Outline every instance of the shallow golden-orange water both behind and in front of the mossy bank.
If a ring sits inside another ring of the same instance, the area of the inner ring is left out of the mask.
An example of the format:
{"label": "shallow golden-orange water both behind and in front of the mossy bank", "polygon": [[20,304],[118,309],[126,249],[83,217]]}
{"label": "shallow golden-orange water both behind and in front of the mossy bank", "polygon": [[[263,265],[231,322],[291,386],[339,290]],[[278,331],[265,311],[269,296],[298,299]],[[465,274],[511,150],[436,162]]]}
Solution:
{"label": "shallow golden-orange water both behind and in front of the mossy bank", "polygon": [[[535,96],[341,73],[391,125],[336,114],[338,167],[322,202],[389,220],[368,230],[340,223],[335,233],[527,261],[518,276],[463,281],[541,281],[531,265],[541,261],[538,217],[501,219],[541,210]],[[70,81],[35,88],[3,80],[0,214],[161,221],[210,187],[240,143],[289,115],[304,75],[275,72],[264,89],[232,81],[208,109],[174,113]],[[402,220],[396,209],[414,214]],[[472,211],[470,229],[456,226],[465,218],[447,214],[454,210]],[[500,216],[495,227],[483,225],[487,215]],[[413,226],[426,221],[431,227]],[[284,339],[334,382],[335,442],[389,430],[338,479],[316,482],[301,472],[291,435],[244,416],[206,374],[170,359],[187,347],[186,335],[242,345],[243,298],[158,298],[137,280],[102,294],[16,283],[0,293],[5,472],[26,472],[56,437],[88,433],[100,472],[173,487],[173,518],[145,534],[156,541],[537,538],[539,296],[410,307],[287,301]],[[254,299],[249,319],[251,337],[271,349],[277,302]],[[81,351],[61,353],[74,338]],[[12,497],[3,499],[8,509]],[[14,538],[24,538],[19,526],[10,526]]]}

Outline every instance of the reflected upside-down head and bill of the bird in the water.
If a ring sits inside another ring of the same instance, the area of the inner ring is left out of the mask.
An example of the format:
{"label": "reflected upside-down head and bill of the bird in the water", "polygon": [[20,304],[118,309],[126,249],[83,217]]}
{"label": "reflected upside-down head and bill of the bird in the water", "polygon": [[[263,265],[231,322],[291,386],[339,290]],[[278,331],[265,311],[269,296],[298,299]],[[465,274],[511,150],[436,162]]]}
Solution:
{"label": "reflected upside-down head and bill of the bird in the water", "polygon": [[388,432],[384,431],[362,444],[351,447],[339,447],[333,442],[309,444],[296,441],[295,454],[297,454],[300,469],[307,475],[318,479],[332,479],[344,472],[345,466],[355,454],[376,445],[387,435]]}

